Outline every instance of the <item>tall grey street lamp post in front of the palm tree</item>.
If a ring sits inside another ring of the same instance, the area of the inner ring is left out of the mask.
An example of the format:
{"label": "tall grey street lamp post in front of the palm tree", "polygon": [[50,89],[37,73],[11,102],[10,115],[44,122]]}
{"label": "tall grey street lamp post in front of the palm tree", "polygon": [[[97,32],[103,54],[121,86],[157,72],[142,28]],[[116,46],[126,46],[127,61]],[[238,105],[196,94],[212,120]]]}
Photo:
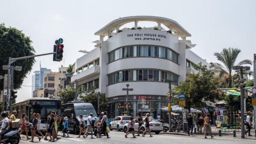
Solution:
{"label": "tall grey street lamp post in front of the palm tree", "polygon": [[240,83],[240,89],[241,89],[241,138],[245,138],[244,136],[244,72],[250,70],[249,66],[233,66],[233,70],[236,70],[236,72],[240,73],[241,79],[238,78],[235,81],[238,81]]}

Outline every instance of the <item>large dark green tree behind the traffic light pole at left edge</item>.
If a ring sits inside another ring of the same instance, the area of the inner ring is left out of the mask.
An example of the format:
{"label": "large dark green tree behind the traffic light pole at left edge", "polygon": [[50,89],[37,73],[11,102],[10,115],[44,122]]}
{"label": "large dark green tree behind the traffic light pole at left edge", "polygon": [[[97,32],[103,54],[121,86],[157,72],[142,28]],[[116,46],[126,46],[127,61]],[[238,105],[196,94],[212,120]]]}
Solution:
{"label": "large dark green tree behind the traffic light pole at left edge", "polygon": [[[31,56],[35,53],[30,37],[15,27],[5,27],[5,24],[0,24],[0,51],[0,66],[8,64],[9,56],[17,58]],[[22,66],[22,71],[14,72],[14,89],[20,88],[27,73],[32,70],[34,62],[34,58],[30,58],[12,63],[12,66]],[[0,75],[3,76],[6,73],[6,70],[0,68]],[[0,90],[2,89],[3,83],[0,83]]]}

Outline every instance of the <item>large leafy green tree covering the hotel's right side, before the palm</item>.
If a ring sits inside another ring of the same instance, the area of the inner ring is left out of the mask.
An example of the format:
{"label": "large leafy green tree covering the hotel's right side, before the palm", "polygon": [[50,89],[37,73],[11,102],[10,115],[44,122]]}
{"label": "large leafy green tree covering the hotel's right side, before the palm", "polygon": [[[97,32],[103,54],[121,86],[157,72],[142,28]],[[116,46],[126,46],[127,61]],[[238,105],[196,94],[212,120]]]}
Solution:
{"label": "large leafy green tree covering the hotel's right side, before the palm", "polygon": [[204,107],[206,101],[219,99],[219,94],[214,91],[219,87],[219,79],[214,76],[214,71],[202,66],[202,63],[194,64],[197,72],[187,76],[184,82],[172,89],[172,95],[184,93],[186,96],[186,106],[190,112],[191,107]]}

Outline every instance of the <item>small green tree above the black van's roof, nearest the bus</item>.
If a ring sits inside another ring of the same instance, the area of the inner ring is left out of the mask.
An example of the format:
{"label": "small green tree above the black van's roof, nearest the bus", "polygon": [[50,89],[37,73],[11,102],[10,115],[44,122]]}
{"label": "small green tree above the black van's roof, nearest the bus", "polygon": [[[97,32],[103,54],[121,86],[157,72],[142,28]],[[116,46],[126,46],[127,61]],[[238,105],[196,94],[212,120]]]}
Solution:
{"label": "small green tree above the black van's roof, nearest the bus", "polygon": [[62,98],[62,103],[65,104],[68,101],[72,101],[76,97],[76,90],[74,87],[71,87],[70,89],[64,89],[63,91],[59,91],[58,94]]}

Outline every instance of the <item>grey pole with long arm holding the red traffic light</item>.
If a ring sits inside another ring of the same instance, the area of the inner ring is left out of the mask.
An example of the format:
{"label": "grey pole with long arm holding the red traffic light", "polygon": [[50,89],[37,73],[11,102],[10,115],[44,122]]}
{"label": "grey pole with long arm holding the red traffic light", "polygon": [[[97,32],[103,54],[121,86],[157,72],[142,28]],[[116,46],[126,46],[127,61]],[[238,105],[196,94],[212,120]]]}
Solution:
{"label": "grey pole with long arm holding the red traffic light", "polygon": [[23,56],[23,57],[19,57],[19,58],[11,58],[9,57],[9,61],[8,61],[8,72],[7,72],[7,108],[6,110],[10,110],[10,98],[11,98],[11,90],[13,89],[13,69],[14,67],[12,66],[12,63],[14,63],[17,60],[20,59],[29,59],[29,58],[34,58],[37,56],[45,56],[45,55],[49,55],[49,54],[56,54],[56,52],[52,52],[52,53],[47,53],[47,54],[37,54],[37,55],[32,55],[32,56]]}

